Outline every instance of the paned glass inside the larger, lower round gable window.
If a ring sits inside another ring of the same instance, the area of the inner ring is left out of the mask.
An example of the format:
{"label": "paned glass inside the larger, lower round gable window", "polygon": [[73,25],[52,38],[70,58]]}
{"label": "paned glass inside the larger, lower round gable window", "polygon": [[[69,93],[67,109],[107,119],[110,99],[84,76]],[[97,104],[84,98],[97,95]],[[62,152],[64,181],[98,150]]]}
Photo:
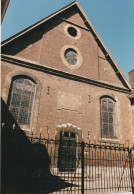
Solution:
{"label": "paned glass inside the larger, lower round gable window", "polygon": [[72,48],[68,48],[65,51],[64,57],[70,65],[75,65],[77,63],[77,52]]}

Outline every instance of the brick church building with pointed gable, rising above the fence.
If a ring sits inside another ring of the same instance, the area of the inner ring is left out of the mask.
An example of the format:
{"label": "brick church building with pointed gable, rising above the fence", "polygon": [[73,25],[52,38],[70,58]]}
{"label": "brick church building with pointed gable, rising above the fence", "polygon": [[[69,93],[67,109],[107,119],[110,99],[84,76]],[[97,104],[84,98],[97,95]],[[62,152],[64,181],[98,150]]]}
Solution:
{"label": "brick church building with pointed gable, rising above the fence", "polygon": [[2,99],[27,136],[133,142],[134,71],[131,86],[77,2],[3,41],[1,59]]}

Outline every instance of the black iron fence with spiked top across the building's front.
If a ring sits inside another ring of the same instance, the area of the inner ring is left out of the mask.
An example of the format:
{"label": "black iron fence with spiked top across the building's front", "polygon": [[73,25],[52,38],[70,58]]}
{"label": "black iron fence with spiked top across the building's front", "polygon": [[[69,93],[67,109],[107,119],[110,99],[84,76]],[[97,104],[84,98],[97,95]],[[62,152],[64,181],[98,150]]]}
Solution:
{"label": "black iron fence with spiked top across the building's front", "polygon": [[2,126],[2,194],[134,193],[134,147],[27,137]]}

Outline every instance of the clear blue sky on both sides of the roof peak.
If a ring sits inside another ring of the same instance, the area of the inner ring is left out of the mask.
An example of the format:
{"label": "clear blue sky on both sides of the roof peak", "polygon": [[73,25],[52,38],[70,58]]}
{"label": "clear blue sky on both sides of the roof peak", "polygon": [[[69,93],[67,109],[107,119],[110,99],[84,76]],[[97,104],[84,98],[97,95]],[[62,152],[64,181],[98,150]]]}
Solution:
{"label": "clear blue sky on both sides of the roof peak", "polygon": [[[134,69],[134,0],[77,0],[128,79]],[[72,0],[10,0],[1,40],[20,32]]]}

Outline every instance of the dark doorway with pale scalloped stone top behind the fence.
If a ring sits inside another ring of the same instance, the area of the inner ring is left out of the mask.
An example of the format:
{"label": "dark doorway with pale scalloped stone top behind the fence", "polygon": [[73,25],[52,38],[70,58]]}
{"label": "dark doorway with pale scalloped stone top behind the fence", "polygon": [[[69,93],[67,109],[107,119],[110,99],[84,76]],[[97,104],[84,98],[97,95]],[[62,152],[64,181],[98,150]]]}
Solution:
{"label": "dark doorway with pale scalloped stone top behind the fence", "polygon": [[79,155],[78,142],[82,141],[82,130],[70,123],[56,127],[56,140],[58,146],[58,169],[59,172],[75,172]]}

